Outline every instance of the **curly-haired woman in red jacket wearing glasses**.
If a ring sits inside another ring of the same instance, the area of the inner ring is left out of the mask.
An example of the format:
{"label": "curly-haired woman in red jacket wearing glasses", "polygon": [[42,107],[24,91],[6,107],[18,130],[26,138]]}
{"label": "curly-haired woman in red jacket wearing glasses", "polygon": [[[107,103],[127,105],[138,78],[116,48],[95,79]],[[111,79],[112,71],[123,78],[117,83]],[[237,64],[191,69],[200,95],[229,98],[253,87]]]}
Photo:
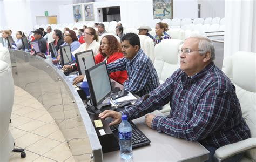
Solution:
{"label": "curly-haired woman in red jacket wearing glasses", "polygon": [[[124,57],[123,53],[120,52],[121,45],[118,42],[117,38],[113,35],[106,35],[102,38],[99,47],[99,53],[95,56],[95,63],[98,64],[107,61],[107,64],[114,62],[115,60]],[[127,80],[127,71],[117,71],[110,73],[110,78],[116,80],[118,83],[123,84]],[[82,82],[84,79],[83,76],[78,76],[74,79],[73,84]]]}

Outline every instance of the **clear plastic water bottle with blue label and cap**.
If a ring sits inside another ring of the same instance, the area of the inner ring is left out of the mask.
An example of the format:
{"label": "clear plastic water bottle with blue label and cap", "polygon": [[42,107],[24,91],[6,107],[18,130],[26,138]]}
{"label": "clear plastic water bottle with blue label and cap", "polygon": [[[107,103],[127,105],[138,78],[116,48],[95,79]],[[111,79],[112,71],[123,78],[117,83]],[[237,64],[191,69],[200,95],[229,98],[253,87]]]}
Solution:
{"label": "clear plastic water bottle with blue label and cap", "polygon": [[132,127],[127,121],[127,116],[122,116],[122,122],[118,127],[120,156],[122,159],[132,158]]}

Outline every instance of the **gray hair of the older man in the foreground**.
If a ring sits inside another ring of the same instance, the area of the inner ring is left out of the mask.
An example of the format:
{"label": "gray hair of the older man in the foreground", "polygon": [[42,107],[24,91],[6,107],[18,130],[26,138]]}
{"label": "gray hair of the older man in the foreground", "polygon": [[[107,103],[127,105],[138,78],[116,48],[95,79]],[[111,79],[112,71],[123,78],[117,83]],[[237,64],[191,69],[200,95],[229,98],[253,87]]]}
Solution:
{"label": "gray hair of the older man in the foreground", "polygon": [[[210,52],[211,58],[210,60],[213,61],[215,59],[215,48],[208,37],[200,34],[191,34],[188,38],[196,38],[199,39],[198,49],[201,50],[199,53],[204,55],[206,52]],[[187,38],[187,39],[188,39]]]}

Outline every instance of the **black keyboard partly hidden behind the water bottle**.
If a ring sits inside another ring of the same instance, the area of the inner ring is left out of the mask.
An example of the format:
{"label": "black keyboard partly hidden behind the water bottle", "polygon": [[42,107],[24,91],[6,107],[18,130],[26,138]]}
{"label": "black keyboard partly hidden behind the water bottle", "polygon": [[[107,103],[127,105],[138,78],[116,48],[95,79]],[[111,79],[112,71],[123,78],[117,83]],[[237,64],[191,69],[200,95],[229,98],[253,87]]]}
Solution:
{"label": "black keyboard partly hidden behind the water bottle", "polygon": [[[151,142],[149,138],[147,138],[145,134],[143,134],[143,132],[140,131],[133,122],[129,122],[129,123],[132,126],[132,149],[149,145]],[[119,139],[118,125],[111,126],[110,129],[113,131],[116,138]]]}

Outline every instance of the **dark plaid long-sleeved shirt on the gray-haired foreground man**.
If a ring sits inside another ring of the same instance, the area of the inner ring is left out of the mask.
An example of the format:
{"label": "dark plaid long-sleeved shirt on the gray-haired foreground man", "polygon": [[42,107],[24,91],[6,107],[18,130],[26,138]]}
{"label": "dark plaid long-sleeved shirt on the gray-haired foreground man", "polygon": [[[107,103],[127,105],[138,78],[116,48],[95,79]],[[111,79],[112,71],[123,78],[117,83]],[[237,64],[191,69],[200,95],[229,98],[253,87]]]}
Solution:
{"label": "dark plaid long-sleeved shirt on the gray-haired foreground man", "polygon": [[212,147],[251,136],[234,85],[213,62],[191,77],[178,69],[149,95],[122,113],[133,119],[170,101],[170,116],[154,117],[152,129]]}

